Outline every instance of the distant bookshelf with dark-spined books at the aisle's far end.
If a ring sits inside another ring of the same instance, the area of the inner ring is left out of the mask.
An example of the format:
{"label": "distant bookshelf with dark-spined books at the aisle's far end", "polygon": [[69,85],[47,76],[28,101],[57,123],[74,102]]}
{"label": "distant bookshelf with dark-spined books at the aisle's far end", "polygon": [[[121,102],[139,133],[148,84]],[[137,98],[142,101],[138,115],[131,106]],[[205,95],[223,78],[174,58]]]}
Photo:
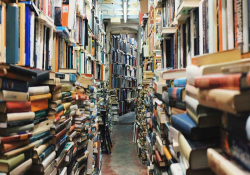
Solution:
{"label": "distant bookshelf with dark-spined books at the aisle's far end", "polygon": [[133,110],[137,86],[137,42],[132,34],[112,35],[110,88],[116,89],[119,114]]}

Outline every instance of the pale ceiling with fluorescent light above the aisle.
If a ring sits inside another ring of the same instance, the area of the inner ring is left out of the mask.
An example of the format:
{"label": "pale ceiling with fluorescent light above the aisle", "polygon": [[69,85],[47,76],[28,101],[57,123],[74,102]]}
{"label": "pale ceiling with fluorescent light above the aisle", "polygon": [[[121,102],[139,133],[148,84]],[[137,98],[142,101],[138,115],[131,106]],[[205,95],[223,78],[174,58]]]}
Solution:
{"label": "pale ceiling with fluorescent light above the aisle", "polygon": [[120,18],[124,19],[124,3],[127,1],[127,19],[139,20],[139,0],[99,0],[104,19]]}

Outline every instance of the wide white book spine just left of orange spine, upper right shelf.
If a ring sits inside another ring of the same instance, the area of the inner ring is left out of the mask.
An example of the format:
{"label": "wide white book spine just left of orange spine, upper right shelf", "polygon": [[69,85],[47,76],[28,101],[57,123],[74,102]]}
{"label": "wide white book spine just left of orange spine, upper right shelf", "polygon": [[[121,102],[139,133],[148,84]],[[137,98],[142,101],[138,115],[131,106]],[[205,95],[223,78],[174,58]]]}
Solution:
{"label": "wide white book spine just left of orange spine, upper right shelf", "polygon": [[217,52],[217,13],[216,0],[208,1],[208,48],[209,53]]}

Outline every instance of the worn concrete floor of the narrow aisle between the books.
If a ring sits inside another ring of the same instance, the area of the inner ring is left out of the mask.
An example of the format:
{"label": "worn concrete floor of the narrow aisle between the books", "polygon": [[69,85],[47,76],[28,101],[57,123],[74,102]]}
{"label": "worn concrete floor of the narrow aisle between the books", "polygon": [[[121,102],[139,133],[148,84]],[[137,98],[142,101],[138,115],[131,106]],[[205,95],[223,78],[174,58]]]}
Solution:
{"label": "worn concrete floor of the narrow aisle between the books", "polygon": [[113,126],[113,148],[111,155],[103,154],[102,175],[146,175],[143,165],[133,143],[133,122],[135,113],[120,116]]}

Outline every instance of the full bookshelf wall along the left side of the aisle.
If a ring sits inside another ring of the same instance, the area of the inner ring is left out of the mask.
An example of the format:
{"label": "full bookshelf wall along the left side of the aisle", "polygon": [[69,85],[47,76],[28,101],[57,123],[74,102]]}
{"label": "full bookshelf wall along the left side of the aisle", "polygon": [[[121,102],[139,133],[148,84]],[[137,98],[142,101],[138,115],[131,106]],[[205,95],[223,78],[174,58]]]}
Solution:
{"label": "full bookshelf wall along the left side of the aisle", "polygon": [[0,9],[0,77],[13,85],[1,86],[12,97],[0,113],[14,117],[0,128],[0,172],[101,174],[112,121],[98,2],[5,0]]}

